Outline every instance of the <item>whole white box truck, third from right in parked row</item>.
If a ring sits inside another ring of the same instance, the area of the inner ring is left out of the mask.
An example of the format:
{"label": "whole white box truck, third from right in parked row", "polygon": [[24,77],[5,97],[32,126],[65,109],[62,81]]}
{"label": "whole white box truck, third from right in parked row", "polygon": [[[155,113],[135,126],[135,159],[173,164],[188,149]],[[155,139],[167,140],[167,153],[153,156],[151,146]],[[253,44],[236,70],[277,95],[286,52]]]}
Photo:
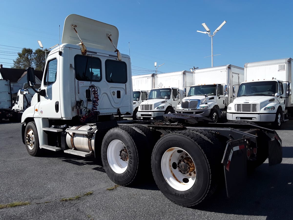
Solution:
{"label": "whole white box truck, third from right in parked row", "polygon": [[190,71],[152,74],[152,89],[147,101],[139,105],[137,117],[148,120],[175,113],[175,107],[192,84],[193,72]]}

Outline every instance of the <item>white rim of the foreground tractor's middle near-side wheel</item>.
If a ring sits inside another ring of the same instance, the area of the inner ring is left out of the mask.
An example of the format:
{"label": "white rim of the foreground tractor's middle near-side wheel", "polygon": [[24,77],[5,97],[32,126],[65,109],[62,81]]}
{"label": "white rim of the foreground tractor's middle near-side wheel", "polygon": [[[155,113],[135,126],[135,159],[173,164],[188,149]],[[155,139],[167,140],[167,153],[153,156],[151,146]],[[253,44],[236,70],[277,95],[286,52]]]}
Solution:
{"label": "white rim of the foreground tractor's middle near-side wheel", "polygon": [[120,157],[120,151],[126,149],[125,145],[119,140],[110,142],[107,150],[107,159],[111,169],[115,173],[123,173],[128,167],[128,160],[124,161]]}

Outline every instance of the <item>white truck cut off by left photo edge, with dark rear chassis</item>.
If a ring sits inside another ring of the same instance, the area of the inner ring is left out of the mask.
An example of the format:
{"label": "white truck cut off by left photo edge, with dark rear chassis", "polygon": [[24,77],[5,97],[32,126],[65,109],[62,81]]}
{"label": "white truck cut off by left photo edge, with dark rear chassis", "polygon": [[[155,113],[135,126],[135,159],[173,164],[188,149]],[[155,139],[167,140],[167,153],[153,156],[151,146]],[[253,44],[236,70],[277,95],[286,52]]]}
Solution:
{"label": "white truck cut off by left photo edge, with dark rear chassis", "polygon": [[13,108],[10,81],[0,79],[0,121],[2,119],[9,119],[11,122],[20,121],[22,112]]}

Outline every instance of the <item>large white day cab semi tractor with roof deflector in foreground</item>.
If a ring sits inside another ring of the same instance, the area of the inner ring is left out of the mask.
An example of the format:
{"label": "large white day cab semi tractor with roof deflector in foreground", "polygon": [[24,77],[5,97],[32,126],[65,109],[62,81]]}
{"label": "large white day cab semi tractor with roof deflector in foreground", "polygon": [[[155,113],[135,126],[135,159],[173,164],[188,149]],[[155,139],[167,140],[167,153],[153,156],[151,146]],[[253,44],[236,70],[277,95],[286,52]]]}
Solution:
{"label": "large white day cab semi tractor with roof deflector in foreground", "polygon": [[[116,48],[118,34],[110,24],[67,16],[62,44],[49,53],[41,87],[22,115],[30,155],[52,150],[100,158],[121,186],[153,175],[161,192],[185,207],[207,201],[224,179],[230,196],[245,183],[247,170],[267,158],[270,165],[281,163],[278,134],[248,121],[209,123],[190,114],[114,120],[117,111],[133,112],[131,62]],[[34,70],[27,71],[34,88]]]}

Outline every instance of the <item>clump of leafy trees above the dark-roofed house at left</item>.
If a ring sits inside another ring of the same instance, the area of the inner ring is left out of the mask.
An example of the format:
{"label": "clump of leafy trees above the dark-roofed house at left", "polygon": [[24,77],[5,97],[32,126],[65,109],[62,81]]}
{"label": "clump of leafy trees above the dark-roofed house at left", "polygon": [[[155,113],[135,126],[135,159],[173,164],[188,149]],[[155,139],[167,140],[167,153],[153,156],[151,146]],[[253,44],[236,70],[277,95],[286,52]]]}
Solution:
{"label": "clump of leafy trees above the dark-roofed house at left", "polygon": [[[45,49],[47,54],[49,50]],[[17,53],[18,57],[13,60],[14,65],[11,68],[26,69],[28,67],[34,67],[35,70],[44,70],[46,63],[46,53],[41,49],[23,48],[20,53]]]}

